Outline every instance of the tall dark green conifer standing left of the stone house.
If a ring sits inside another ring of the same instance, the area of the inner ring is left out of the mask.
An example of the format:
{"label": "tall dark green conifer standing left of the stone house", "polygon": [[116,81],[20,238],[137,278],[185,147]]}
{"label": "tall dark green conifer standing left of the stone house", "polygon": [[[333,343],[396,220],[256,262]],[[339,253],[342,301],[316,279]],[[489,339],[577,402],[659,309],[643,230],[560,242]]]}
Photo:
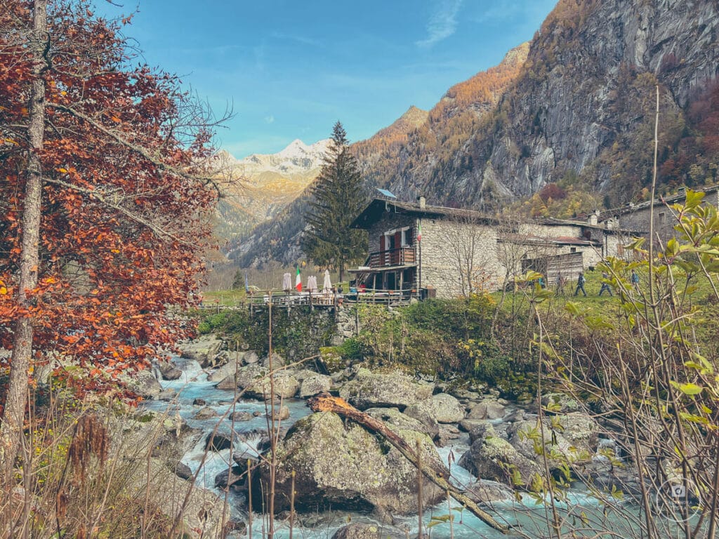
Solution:
{"label": "tall dark green conifer standing left of the stone house", "polygon": [[339,280],[343,280],[347,266],[367,252],[365,231],[349,228],[365,207],[367,196],[339,121],[334,124],[332,142],[320,175],[310,188],[302,250],[315,264],[338,270]]}

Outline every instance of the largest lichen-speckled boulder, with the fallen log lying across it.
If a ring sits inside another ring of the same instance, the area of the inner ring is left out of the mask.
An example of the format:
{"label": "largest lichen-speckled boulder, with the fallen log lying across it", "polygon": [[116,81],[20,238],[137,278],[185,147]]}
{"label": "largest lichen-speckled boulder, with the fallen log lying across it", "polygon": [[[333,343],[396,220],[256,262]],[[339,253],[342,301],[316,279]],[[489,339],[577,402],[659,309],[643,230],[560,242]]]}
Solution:
{"label": "largest lichen-speckled boulder, with the fallen log lying across it", "polygon": [[[428,436],[402,428],[395,432],[411,447],[420,444],[424,464],[448,473]],[[385,440],[334,413],[315,413],[298,420],[279,444],[277,455],[278,510],[290,505],[293,471],[299,512],[376,510],[406,515],[418,510],[415,466]],[[269,475],[269,469],[262,466],[265,489]],[[444,492],[424,478],[422,489],[425,507],[444,499]]]}

